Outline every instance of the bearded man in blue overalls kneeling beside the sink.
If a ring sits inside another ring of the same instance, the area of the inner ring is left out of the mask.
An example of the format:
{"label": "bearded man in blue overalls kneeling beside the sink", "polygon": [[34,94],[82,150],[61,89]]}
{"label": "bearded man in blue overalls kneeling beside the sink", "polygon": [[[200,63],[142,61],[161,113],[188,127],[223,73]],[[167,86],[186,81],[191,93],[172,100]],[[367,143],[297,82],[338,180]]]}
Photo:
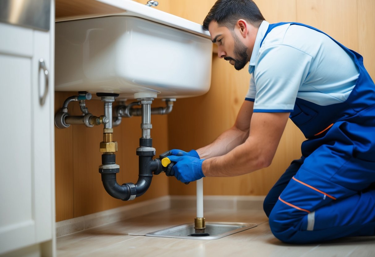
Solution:
{"label": "bearded man in blue overalls kneeling beside the sink", "polygon": [[162,154],[181,182],[270,165],[290,118],[307,140],[264,200],[272,233],[306,244],[375,235],[375,85],[360,54],[305,24],[269,24],[252,0],[218,0],[203,22],[249,91],[213,143]]}

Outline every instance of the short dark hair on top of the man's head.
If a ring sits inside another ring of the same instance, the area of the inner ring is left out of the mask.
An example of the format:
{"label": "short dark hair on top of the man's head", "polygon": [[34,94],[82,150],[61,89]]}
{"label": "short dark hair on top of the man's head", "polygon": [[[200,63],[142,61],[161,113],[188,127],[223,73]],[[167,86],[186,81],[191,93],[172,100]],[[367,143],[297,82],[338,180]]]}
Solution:
{"label": "short dark hair on top of the man's head", "polygon": [[239,19],[244,19],[255,27],[259,27],[264,21],[257,4],[252,0],[217,0],[203,21],[203,29],[208,30],[211,21],[233,29]]}

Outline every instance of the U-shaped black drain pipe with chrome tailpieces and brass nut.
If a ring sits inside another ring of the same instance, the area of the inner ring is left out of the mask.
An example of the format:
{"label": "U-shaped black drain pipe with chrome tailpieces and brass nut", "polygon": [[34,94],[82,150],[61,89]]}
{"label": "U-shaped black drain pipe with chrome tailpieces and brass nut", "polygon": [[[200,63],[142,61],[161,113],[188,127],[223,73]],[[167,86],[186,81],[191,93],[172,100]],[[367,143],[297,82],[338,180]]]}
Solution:
{"label": "U-shaped black drain pipe with chrome tailpieces and brass nut", "polygon": [[[104,102],[105,117],[112,117],[112,102],[118,94],[98,93],[97,96],[102,98]],[[120,172],[120,166],[116,164],[114,152],[117,151],[117,142],[112,141],[112,118],[107,124],[104,124],[103,142],[101,142],[100,151],[102,154],[102,165],[99,166],[99,173],[102,175],[102,182],[105,190],[110,196],[124,201],[133,200],[135,197],[144,194],[150,187],[152,180],[152,172],[156,174],[162,170],[160,159],[153,160],[155,148],[152,147],[152,139],[150,137],[151,111],[150,106],[152,98],[139,99],[142,105],[142,137],[139,139],[139,147],[136,154],[139,158],[139,175],[136,184],[125,183],[119,185],[116,181],[116,173]]]}

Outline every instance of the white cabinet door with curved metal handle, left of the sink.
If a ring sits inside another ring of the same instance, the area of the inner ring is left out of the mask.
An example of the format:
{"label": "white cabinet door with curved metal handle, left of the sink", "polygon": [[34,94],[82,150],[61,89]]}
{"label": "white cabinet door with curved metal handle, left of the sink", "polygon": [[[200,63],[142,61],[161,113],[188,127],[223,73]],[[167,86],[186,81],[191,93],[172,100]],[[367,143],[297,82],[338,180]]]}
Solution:
{"label": "white cabinet door with curved metal handle, left of the sink", "polygon": [[53,39],[5,23],[0,38],[0,255],[53,256]]}

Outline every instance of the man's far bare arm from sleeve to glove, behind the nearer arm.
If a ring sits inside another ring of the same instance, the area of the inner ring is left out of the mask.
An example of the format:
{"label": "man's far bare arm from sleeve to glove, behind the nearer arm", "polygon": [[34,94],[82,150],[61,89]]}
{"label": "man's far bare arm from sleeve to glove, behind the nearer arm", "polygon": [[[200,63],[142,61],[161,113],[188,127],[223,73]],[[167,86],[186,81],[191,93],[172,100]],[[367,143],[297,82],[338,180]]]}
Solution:
{"label": "man's far bare arm from sleeve to glove, behind the nearer arm", "polygon": [[249,136],[250,120],[253,113],[254,102],[245,101],[233,127],[220,134],[217,139],[207,146],[197,149],[199,157],[203,159],[221,156],[236,146],[245,142]]}

